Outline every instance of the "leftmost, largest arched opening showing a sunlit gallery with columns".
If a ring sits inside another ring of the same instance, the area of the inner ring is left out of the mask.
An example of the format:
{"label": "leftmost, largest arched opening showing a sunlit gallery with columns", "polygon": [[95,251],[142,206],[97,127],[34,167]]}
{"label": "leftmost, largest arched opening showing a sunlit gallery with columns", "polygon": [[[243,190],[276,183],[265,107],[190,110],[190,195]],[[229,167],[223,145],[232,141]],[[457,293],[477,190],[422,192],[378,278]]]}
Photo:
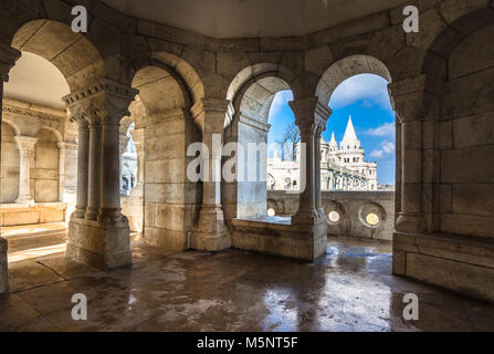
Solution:
{"label": "leftmost, largest arched opening showing a sunlit gallery with columns", "polygon": [[[85,37],[56,21],[27,22],[11,46],[21,55],[3,84],[0,227],[9,263],[34,274],[45,270],[38,260],[65,256],[75,209],[77,125],[63,97],[103,77],[104,65]],[[13,273],[11,291],[44,281]]]}

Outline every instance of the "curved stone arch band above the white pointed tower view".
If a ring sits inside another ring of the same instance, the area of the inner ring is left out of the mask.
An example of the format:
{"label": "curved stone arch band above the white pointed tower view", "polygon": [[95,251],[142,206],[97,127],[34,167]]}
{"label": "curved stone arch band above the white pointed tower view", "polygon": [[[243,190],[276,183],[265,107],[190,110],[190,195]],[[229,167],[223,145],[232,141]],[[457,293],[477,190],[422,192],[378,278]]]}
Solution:
{"label": "curved stone arch band above the white pointed tower view", "polygon": [[328,106],[329,100],[339,84],[359,74],[379,75],[391,83],[391,73],[380,60],[364,54],[346,56],[333,63],[320,77],[316,87],[319,103]]}

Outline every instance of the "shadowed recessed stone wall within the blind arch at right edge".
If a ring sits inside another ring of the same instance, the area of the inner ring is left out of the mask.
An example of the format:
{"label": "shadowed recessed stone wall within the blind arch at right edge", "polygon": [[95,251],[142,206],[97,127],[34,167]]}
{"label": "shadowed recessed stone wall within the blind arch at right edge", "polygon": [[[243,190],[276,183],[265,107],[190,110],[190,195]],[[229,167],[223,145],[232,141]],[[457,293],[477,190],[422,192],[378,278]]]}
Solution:
{"label": "shadowed recessed stone wall within the blind arch at right edge", "polygon": [[441,231],[494,238],[494,25],[451,53],[441,114]]}

